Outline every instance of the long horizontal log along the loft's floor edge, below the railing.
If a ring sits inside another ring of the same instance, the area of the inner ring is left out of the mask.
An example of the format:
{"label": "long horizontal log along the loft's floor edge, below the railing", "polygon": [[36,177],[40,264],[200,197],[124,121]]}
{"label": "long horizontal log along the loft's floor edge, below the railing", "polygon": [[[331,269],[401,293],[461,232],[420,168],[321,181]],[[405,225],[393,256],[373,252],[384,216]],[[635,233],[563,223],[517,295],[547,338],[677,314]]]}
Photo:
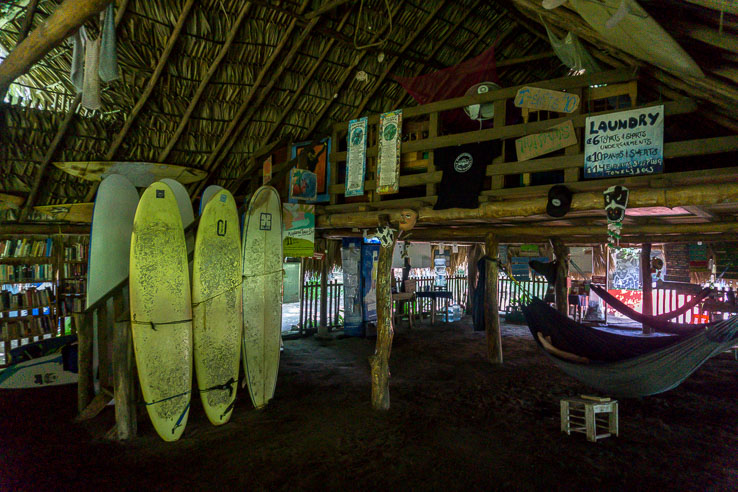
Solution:
{"label": "long horizontal log along the loft's floor edge, below the railing", "polygon": [[[433,210],[425,207],[418,210],[418,223],[442,223],[453,220],[486,220],[517,217],[530,217],[546,213],[545,197],[527,200],[487,202],[475,209]],[[630,192],[628,206],[639,207],[680,207],[684,205],[716,205],[738,202],[738,183],[704,184],[678,186],[673,188],[636,189]],[[602,193],[576,193],[572,198],[571,211],[602,210]],[[341,227],[369,228],[379,225],[379,216],[389,215],[390,220],[399,221],[401,210],[355,212],[347,214],[325,214],[317,218],[318,229]],[[591,233],[591,230],[590,230]],[[540,230],[538,232],[540,234]]]}

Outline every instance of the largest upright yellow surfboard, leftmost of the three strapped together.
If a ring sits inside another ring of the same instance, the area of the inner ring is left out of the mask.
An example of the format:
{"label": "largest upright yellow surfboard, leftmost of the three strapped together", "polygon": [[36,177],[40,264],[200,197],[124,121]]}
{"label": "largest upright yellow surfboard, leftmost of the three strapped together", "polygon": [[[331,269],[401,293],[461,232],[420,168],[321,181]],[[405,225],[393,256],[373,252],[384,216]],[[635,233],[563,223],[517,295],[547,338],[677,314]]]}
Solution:
{"label": "largest upright yellow surfboard, leftmost of the three strapped together", "polygon": [[153,183],[136,209],[129,277],[138,379],[151,422],[165,441],[182,435],[192,391],[192,297],[177,200]]}

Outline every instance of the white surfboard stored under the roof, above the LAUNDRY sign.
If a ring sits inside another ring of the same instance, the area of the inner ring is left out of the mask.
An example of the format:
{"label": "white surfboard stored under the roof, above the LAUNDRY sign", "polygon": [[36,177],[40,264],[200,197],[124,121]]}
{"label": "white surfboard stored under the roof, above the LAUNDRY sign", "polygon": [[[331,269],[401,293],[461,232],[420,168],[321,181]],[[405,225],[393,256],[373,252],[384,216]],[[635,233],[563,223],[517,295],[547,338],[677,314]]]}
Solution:
{"label": "white surfboard stored under the roof, above the LAUNDRY sign", "polygon": [[[623,1],[625,11],[620,10]],[[579,15],[613,46],[667,70],[693,77],[705,76],[692,57],[635,0],[570,2]],[[612,21],[606,25],[610,19]]]}

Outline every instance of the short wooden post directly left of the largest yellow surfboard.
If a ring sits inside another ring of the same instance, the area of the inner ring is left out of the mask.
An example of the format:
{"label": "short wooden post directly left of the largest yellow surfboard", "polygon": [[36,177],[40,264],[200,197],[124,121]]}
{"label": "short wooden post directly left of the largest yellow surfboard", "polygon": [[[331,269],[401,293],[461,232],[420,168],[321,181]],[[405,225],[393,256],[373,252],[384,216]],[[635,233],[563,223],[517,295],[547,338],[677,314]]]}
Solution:
{"label": "short wooden post directly left of the largest yellow surfboard", "polygon": [[113,387],[115,395],[115,424],[119,440],[136,437],[136,401],[133,338],[129,310],[124,293],[113,299],[115,327],[113,329]]}

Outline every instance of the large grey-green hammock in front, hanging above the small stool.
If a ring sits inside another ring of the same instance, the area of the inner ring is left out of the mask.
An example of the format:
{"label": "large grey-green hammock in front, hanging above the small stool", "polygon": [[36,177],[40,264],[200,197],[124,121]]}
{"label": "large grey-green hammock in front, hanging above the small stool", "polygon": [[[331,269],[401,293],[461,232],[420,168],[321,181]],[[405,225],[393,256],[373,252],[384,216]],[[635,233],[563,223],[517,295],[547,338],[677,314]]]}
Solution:
{"label": "large grey-green hammock in front, hanging above the small stool", "polygon": [[[546,356],[569,376],[606,394],[648,396],[677,387],[707,359],[738,340],[738,316],[688,335],[629,336],[588,328],[540,300],[523,307],[528,327]],[[550,337],[556,352],[591,360],[577,363],[544,348]]]}

